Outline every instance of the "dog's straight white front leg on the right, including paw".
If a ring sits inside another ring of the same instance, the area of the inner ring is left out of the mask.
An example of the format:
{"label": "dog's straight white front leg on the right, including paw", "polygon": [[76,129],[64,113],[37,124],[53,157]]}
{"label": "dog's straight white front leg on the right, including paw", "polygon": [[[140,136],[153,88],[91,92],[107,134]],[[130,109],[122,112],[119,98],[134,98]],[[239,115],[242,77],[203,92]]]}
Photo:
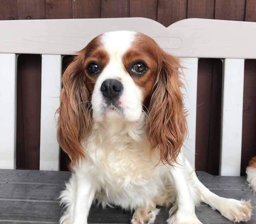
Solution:
{"label": "dog's straight white front leg on the right, including paw", "polygon": [[[201,224],[195,215],[195,199],[191,192],[191,186],[185,167],[185,157],[182,152],[178,156],[178,163],[170,168],[170,181],[174,184],[177,194],[177,212],[168,220],[168,224]],[[172,212],[171,209],[170,212]]]}

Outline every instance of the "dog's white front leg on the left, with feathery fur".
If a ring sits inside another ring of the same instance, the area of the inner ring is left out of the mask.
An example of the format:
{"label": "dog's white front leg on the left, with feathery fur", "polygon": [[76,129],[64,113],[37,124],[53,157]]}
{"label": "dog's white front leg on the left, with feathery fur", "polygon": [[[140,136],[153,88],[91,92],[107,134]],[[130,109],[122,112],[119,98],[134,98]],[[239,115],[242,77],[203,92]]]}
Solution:
{"label": "dog's white front leg on the left, with feathery fur", "polygon": [[87,224],[87,217],[95,195],[95,188],[84,174],[72,174],[66,189],[61,193],[61,203],[66,211],[61,224]]}

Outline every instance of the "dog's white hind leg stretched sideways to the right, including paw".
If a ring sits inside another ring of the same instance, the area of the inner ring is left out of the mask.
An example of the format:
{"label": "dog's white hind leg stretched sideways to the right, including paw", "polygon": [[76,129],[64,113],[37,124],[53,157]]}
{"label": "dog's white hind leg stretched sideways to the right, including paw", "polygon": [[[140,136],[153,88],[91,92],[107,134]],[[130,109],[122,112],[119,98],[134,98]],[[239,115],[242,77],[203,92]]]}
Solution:
{"label": "dog's white hind leg stretched sideways to the right, including paw", "polygon": [[186,160],[186,168],[190,176],[190,184],[196,188],[199,193],[199,199],[217,209],[224,217],[233,222],[248,221],[252,214],[252,206],[249,202],[235,200],[231,198],[222,198],[212,193],[197,178],[190,162]]}

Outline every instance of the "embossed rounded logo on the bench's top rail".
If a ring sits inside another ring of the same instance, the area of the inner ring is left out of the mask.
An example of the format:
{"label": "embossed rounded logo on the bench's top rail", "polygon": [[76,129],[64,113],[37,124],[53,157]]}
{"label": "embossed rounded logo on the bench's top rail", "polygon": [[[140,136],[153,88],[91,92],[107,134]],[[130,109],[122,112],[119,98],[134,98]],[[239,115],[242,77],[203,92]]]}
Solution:
{"label": "embossed rounded logo on the bench's top rail", "polygon": [[152,39],[161,48],[180,48],[182,46],[182,39],[178,36],[153,36]]}

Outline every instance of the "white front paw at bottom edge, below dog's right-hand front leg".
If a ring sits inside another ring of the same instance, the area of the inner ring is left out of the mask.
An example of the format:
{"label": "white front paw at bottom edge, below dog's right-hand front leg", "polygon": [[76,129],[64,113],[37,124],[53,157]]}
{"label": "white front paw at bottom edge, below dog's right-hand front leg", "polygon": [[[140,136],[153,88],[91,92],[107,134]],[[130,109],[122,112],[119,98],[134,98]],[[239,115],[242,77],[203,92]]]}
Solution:
{"label": "white front paw at bottom edge, below dog's right-hand front leg", "polygon": [[169,219],[167,219],[168,224],[202,224],[195,214],[183,214],[181,212],[176,212]]}

